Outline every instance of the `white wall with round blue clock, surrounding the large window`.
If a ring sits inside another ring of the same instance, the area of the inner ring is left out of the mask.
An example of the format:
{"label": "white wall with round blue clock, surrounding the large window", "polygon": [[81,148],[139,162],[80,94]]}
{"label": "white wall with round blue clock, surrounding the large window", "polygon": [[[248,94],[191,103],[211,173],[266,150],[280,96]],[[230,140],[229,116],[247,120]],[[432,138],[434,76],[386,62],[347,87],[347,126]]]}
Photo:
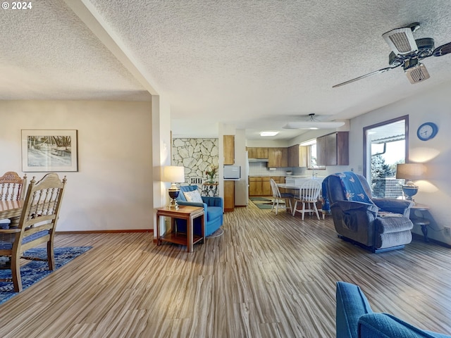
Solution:
{"label": "white wall with round blue clock, surrounding the large window", "polygon": [[[425,180],[416,182],[419,192],[414,199],[431,207],[433,222],[428,229],[428,237],[447,244],[451,244],[451,237],[445,235],[443,227],[451,225],[448,213],[451,206],[451,142],[447,130],[451,125],[450,91],[451,84],[445,84],[439,89],[379,108],[352,119],[350,129],[350,168],[359,168],[364,163],[363,127],[409,115],[409,161],[424,162],[428,167]],[[438,134],[424,142],[416,137],[416,130],[427,121],[438,125]],[[414,232],[421,234],[421,229],[415,227]]]}

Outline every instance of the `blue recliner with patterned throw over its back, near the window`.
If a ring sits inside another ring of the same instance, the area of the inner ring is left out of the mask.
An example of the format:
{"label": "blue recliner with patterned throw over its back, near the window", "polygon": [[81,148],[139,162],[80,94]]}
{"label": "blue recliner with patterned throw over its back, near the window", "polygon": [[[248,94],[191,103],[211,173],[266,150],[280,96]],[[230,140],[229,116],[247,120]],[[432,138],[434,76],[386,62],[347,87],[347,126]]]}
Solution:
{"label": "blue recliner with patterned throw over its back, near the window", "polygon": [[330,204],[335,230],[348,242],[373,252],[401,249],[412,242],[412,202],[373,199],[362,175],[329,175],[323,181],[323,198]]}

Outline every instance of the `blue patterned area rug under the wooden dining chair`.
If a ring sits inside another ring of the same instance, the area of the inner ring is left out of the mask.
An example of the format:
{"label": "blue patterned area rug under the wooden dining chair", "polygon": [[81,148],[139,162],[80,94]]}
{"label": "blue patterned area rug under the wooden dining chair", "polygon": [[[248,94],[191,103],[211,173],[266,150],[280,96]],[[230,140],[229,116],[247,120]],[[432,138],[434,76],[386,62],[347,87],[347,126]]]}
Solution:
{"label": "blue patterned area rug under the wooden dining chair", "polygon": [[[92,246],[73,246],[68,248],[55,248],[55,270],[69,263],[73,258],[85,253]],[[25,251],[23,256],[36,256],[39,258],[47,257],[47,250],[44,248],[36,248]],[[45,261],[30,261],[20,267],[20,276],[22,277],[22,287],[27,289],[35,282],[42,280],[50,275],[53,271],[49,270],[49,265]],[[11,270],[0,270],[0,278],[11,278]],[[19,292],[14,292],[13,282],[0,282],[0,304],[4,303],[11,297],[16,296]]]}

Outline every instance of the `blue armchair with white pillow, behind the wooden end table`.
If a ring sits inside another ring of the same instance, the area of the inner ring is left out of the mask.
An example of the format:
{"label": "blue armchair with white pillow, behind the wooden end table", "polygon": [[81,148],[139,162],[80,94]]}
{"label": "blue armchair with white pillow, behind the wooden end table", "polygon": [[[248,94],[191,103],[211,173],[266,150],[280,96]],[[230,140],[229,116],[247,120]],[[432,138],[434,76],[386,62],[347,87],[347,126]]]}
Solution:
{"label": "blue armchair with white pillow, behind the wooden end table", "polygon": [[[204,207],[205,213],[205,236],[212,234],[223,225],[223,199],[221,197],[202,196],[204,203],[188,202],[185,199],[183,192],[192,192],[197,190],[197,185],[183,185],[180,187],[180,194],[177,197],[177,203],[180,206],[201,206]],[[183,227],[186,228],[185,220],[177,220],[177,227],[179,231],[183,232]],[[194,234],[201,234],[201,220],[194,219]]]}

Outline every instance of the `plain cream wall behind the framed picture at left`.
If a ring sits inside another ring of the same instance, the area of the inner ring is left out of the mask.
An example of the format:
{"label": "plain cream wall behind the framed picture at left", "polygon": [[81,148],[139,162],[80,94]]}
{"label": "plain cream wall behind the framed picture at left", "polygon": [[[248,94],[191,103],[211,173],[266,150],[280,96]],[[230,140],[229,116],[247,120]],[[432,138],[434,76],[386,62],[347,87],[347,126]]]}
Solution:
{"label": "plain cream wall behind the framed picture at left", "polygon": [[78,130],[58,231],[154,227],[150,102],[0,101],[0,116],[0,173],[23,175],[20,130]]}

